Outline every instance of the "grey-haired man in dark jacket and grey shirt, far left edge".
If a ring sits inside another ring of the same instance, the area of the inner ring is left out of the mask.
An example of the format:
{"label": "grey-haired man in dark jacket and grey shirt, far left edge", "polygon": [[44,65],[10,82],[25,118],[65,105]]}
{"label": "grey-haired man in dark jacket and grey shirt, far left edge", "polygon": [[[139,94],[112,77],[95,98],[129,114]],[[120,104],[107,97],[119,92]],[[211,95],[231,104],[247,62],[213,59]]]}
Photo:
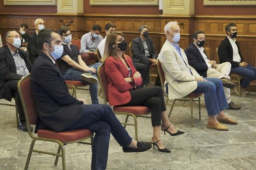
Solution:
{"label": "grey-haired man in dark jacket and grey shirt, far left edge", "polygon": [[21,37],[16,31],[6,33],[6,46],[0,48],[0,98],[8,101],[15,97],[22,131],[28,131],[24,110],[18,93],[18,81],[29,74],[32,64],[27,53],[19,49]]}

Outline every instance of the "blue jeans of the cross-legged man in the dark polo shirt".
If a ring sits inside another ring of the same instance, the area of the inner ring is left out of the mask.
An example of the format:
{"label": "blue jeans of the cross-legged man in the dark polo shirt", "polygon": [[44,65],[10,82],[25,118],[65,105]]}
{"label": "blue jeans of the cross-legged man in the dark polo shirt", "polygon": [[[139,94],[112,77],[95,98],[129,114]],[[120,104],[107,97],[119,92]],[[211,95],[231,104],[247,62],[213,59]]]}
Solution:
{"label": "blue jeans of the cross-legged man in the dark polo shirt", "polygon": [[[101,65],[102,63],[95,63],[90,65],[89,67],[93,67],[96,69],[98,69],[98,67]],[[97,78],[97,72],[93,73],[92,71],[87,71],[90,72],[94,77]],[[80,78],[80,75],[83,74],[84,71],[82,70],[78,70],[74,67],[70,68],[69,70],[67,70],[65,72],[65,74],[63,75],[64,80],[72,80],[72,81],[80,81],[80,82],[84,82],[84,83],[89,83],[83,79]],[[94,84],[90,84],[89,85],[89,92],[90,92],[90,96],[91,96],[91,100],[92,100],[92,104],[99,104],[98,101],[98,83],[94,83]]]}

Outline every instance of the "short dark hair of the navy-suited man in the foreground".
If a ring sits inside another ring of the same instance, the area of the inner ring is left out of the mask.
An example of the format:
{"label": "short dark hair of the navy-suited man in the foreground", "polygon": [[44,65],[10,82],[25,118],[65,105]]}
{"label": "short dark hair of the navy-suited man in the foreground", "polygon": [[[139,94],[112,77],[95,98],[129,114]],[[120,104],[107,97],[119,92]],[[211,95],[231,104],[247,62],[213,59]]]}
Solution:
{"label": "short dark hair of the navy-suited man in the foreground", "polygon": [[42,29],[41,31],[39,31],[36,38],[36,43],[40,51],[43,49],[44,43],[51,44],[51,41],[53,40],[52,33],[58,34],[58,31],[56,31],[55,29]]}

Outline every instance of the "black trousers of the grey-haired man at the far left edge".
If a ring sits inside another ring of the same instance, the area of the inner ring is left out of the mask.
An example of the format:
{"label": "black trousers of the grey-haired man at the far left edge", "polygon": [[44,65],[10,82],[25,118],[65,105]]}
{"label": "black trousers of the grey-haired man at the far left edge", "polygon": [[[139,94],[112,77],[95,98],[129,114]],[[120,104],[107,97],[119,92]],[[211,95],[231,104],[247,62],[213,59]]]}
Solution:
{"label": "black trousers of the grey-haired man at the far left edge", "polygon": [[20,95],[18,92],[18,82],[19,80],[10,80],[6,82],[5,85],[10,86],[12,96],[15,97],[15,105],[18,109],[19,119],[21,122],[21,121],[26,121],[26,118],[25,118],[24,109],[20,100]]}

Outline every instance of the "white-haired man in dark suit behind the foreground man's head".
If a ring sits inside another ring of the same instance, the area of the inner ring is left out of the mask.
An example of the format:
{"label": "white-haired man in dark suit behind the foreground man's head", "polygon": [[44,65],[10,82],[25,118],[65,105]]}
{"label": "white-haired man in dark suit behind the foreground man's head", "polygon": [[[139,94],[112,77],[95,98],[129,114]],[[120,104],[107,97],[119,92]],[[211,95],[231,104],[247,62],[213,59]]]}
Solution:
{"label": "white-haired man in dark suit behind the foreground man's head", "polygon": [[42,29],[44,29],[44,20],[41,18],[38,18],[35,20],[35,28],[36,31],[34,33],[32,33],[29,37],[28,37],[28,54],[29,54],[29,60],[30,62],[33,64],[36,57],[39,54],[39,50],[36,44],[36,37],[38,35],[38,32]]}

